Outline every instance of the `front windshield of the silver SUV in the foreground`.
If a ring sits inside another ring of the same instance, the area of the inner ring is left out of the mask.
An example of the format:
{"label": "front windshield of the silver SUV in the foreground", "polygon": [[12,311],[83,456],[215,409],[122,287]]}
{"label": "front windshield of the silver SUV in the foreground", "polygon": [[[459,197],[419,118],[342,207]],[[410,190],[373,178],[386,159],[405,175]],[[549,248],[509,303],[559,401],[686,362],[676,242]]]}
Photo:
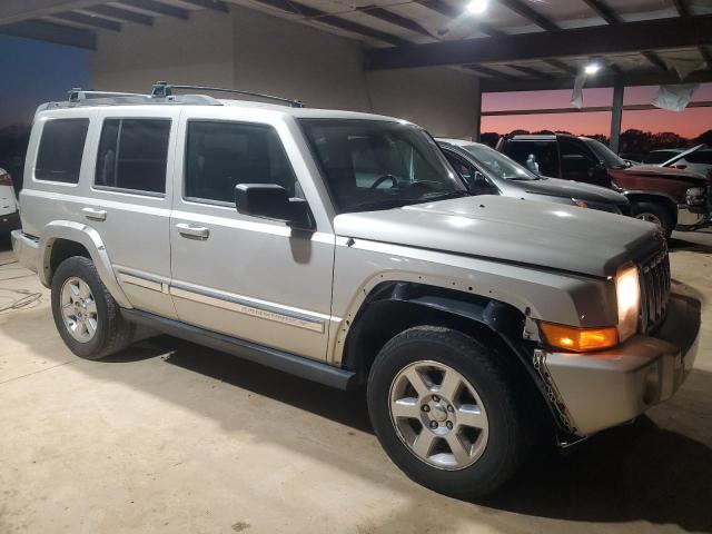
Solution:
{"label": "front windshield of the silver SUV in the foreground", "polygon": [[339,212],[467,195],[421,128],[386,120],[299,119]]}

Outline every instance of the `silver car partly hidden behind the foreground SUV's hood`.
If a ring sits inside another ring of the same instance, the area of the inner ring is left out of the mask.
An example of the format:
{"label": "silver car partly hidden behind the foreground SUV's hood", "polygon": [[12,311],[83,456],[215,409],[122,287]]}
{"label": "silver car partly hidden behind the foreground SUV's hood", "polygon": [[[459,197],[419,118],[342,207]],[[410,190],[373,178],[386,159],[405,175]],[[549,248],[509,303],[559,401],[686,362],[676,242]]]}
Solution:
{"label": "silver car partly hidden behind the foreground SUV's hood", "polygon": [[611,189],[534,174],[478,142],[459,139],[436,141],[473,195],[504,195],[630,215],[627,199]]}

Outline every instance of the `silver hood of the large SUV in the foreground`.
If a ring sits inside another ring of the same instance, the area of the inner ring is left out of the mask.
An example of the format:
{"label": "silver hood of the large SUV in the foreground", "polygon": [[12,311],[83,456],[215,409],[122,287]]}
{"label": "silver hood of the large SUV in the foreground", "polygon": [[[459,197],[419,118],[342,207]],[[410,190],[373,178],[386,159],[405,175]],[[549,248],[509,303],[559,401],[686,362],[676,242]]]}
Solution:
{"label": "silver hood of the large SUV in the foreground", "polygon": [[663,243],[650,222],[575,206],[463,197],[343,214],[336,234],[606,277]]}

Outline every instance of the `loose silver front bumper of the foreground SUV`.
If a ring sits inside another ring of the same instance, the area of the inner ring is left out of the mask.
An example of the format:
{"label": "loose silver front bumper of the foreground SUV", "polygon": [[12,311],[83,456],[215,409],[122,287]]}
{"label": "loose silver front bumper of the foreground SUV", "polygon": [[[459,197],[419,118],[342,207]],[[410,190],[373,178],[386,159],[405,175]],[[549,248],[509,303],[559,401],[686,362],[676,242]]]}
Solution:
{"label": "loose silver front bumper of the foreground SUV", "polygon": [[589,436],[672,397],[694,364],[699,330],[700,301],[673,283],[668,318],[654,336],[594,354],[542,352],[544,377],[571,431]]}

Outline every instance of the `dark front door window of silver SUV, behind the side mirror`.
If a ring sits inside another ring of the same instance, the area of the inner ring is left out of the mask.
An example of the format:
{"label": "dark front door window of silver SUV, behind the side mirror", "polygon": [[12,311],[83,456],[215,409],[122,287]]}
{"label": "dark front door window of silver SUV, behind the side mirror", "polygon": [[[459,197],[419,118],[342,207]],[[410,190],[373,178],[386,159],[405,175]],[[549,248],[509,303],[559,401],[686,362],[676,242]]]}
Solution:
{"label": "dark front door window of silver SUV, behind the side mirror", "polygon": [[188,122],[187,198],[235,202],[238,184],[277,184],[301,196],[274,128],[237,122]]}

